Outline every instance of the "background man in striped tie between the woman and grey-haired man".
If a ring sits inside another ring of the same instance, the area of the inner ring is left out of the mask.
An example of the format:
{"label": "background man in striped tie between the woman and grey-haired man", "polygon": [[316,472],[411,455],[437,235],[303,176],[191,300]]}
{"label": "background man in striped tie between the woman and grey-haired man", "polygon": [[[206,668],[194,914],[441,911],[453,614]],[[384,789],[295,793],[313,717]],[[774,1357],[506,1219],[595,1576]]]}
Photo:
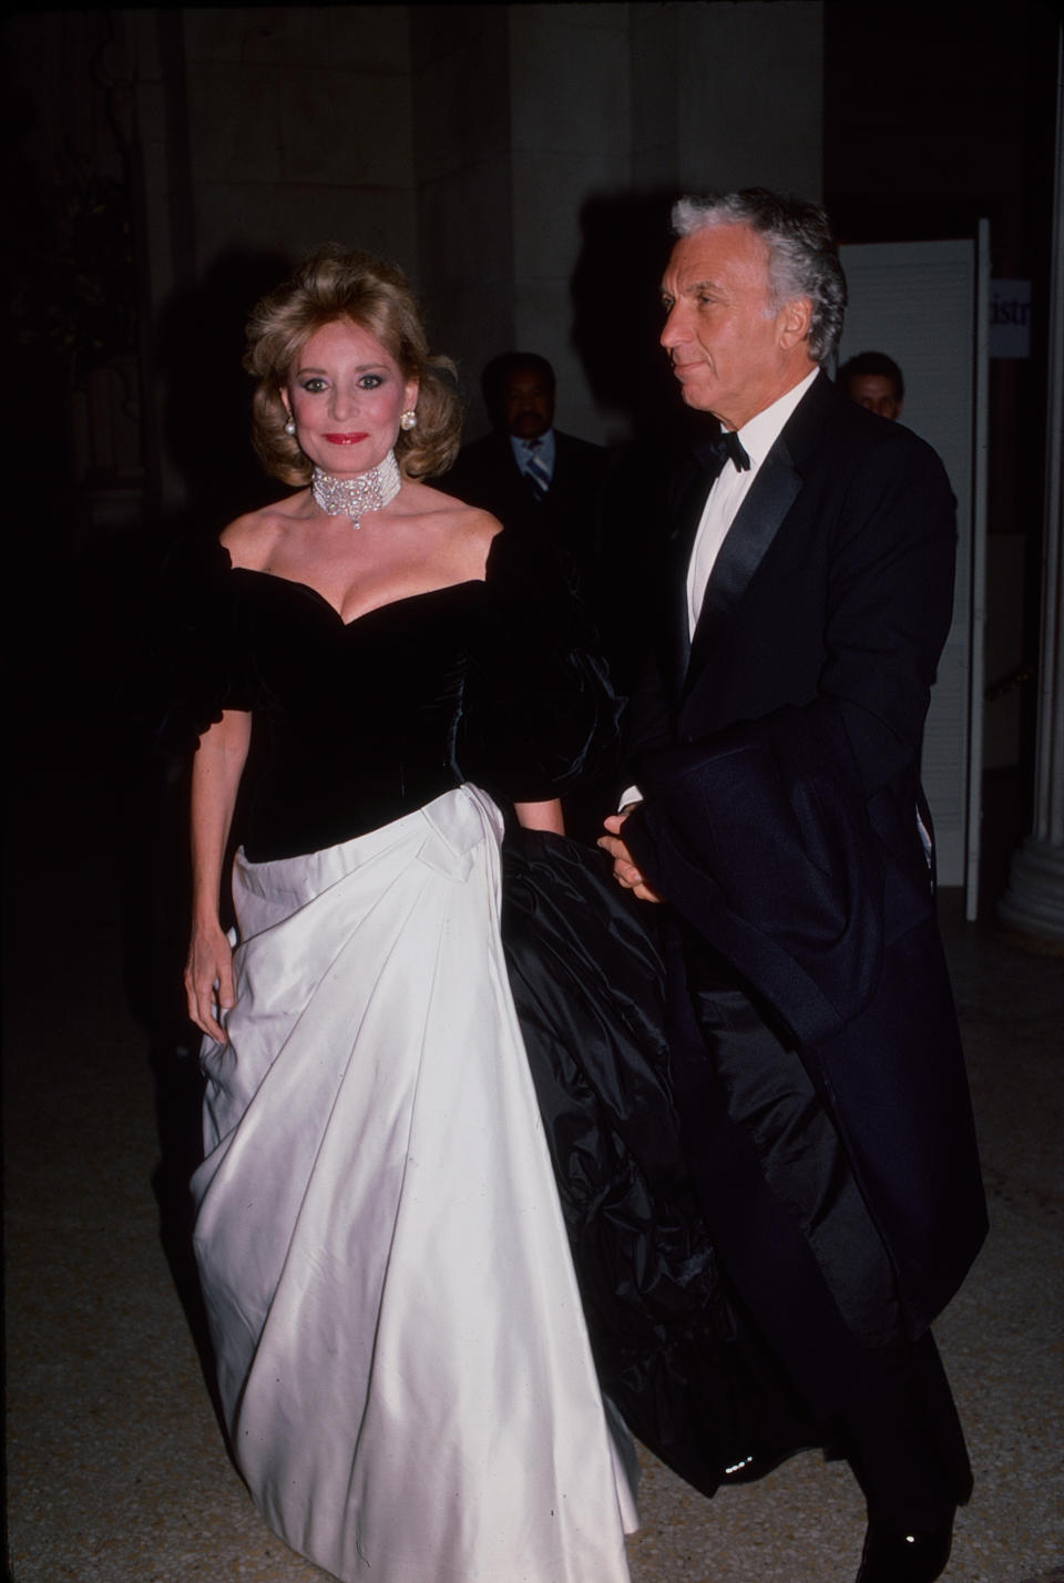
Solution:
{"label": "background man in striped tie between the woman and grey-haired man", "polygon": [[440,486],[546,540],[580,578],[595,543],[605,450],[554,427],[554,369],[534,351],[492,358],[483,389],[492,434],[462,446]]}

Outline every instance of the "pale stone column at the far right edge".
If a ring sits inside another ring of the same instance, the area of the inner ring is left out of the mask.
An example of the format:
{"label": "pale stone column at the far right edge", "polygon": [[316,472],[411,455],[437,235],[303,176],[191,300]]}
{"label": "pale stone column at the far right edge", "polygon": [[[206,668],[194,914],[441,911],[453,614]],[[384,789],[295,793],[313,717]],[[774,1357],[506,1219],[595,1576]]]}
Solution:
{"label": "pale stone column at the far right edge", "polygon": [[1064,52],[1058,70],[1056,188],[1050,282],[1045,565],[1034,829],[1012,860],[998,909],[1010,929],[1064,950]]}

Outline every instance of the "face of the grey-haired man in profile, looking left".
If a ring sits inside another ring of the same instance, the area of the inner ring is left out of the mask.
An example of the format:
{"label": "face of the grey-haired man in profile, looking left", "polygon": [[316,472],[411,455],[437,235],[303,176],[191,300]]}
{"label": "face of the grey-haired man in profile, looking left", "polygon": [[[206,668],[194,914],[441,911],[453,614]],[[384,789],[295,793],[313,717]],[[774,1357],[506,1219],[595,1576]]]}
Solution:
{"label": "face of the grey-haired man in profile, looking left", "polygon": [[773,310],[768,245],[747,225],[681,236],[662,280],[662,345],[684,400],[741,429],[814,367],[809,302]]}

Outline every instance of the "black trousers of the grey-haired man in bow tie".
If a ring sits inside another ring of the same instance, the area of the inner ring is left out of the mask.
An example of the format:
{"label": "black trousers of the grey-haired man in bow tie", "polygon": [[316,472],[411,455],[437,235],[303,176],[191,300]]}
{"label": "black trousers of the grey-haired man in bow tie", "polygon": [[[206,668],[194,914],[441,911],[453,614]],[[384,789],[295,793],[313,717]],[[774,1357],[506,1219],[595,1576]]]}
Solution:
{"label": "black trousers of the grey-haired man in bow tie", "polygon": [[934,1341],[904,1334],[831,1118],[785,1031],[705,942],[676,934],[667,959],[676,1103],[720,1260],[869,1520],[937,1528],[971,1493],[964,1436]]}

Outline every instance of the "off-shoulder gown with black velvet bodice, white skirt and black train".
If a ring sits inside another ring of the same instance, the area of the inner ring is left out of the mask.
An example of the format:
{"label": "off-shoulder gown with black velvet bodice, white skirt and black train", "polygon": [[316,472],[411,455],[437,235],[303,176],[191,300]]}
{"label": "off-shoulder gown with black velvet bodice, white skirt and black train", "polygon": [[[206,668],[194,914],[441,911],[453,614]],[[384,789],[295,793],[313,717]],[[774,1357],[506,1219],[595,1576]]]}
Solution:
{"label": "off-shoulder gown with black velvet bodice, white skirt and black train", "polygon": [[613,741],[580,617],[508,533],[347,624],[214,541],[169,597],[168,741],[253,716],[192,1183],[233,1458],[344,1583],[624,1583],[618,1409],[706,1493],[808,1425],[700,1222],[638,909],[500,812]]}

